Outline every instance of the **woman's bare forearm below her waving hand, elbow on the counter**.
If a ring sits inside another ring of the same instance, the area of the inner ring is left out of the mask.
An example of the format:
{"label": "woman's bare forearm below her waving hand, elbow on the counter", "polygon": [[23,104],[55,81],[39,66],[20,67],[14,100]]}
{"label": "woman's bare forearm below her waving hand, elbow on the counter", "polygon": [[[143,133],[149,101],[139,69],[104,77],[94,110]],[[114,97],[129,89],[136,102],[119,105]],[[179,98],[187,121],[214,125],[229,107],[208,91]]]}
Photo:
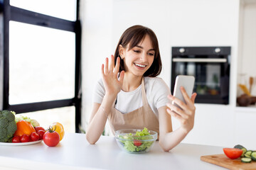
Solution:
{"label": "woman's bare forearm below her waving hand, elbow on the counter", "polygon": [[99,140],[100,135],[102,135],[107,122],[107,116],[110,114],[115,98],[115,96],[105,95],[100,108],[97,109],[97,112],[91,118],[86,132],[86,139],[90,144],[95,144]]}

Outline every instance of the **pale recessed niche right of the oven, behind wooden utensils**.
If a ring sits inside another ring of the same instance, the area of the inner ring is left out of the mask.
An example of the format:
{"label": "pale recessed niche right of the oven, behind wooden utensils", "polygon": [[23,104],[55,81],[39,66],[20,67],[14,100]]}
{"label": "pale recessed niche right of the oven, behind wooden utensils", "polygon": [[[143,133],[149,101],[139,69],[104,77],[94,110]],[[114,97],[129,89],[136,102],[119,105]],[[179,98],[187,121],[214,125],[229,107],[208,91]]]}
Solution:
{"label": "pale recessed niche right of the oven, behind wooden utensils", "polygon": [[[238,30],[238,84],[244,84],[250,89],[252,77],[252,96],[256,96],[256,0],[240,0],[239,30]],[[237,97],[243,91],[237,87]],[[255,108],[254,105],[247,106]]]}

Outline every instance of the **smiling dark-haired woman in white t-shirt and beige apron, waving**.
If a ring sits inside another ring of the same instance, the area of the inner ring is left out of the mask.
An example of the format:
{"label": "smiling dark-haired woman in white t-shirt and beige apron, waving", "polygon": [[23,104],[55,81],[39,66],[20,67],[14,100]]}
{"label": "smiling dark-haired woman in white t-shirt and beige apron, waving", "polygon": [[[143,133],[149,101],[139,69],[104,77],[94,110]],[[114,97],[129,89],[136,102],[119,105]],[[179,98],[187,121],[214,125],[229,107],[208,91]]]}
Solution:
{"label": "smiling dark-haired woman in white t-shirt and beige apron, waving", "polygon": [[[154,32],[132,26],[122,34],[114,56],[102,64],[102,79],[95,91],[95,103],[87,129],[87,141],[95,144],[107,119],[112,131],[148,128],[159,132],[159,145],[169,151],[193,128],[196,94],[191,98],[181,87],[186,103],[171,96],[161,78],[161,57]],[[174,101],[180,108],[171,105]],[[171,116],[181,127],[172,130]]]}

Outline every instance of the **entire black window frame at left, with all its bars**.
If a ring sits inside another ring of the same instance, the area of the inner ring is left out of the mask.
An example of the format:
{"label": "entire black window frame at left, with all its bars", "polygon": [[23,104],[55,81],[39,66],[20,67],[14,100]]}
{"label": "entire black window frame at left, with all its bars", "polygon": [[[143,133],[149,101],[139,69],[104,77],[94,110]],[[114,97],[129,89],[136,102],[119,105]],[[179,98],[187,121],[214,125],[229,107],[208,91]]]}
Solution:
{"label": "entire black window frame at left, with all its bars", "polygon": [[[0,47],[3,47],[1,52],[0,63],[3,65],[3,104],[2,110],[15,111],[18,113],[28,113],[33,111],[43,111],[51,108],[62,108],[66,106],[75,106],[75,132],[80,132],[81,124],[81,23],[79,16],[80,0],[76,0],[76,20],[68,21],[53,16],[28,11],[23,8],[10,5],[10,0],[0,0],[0,21],[3,22],[2,35],[4,40],[1,40]],[[55,28],[57,30],[66,30],[75,33],[75,97],[65,98],[55,101],[41,101],[35,103],[20,103],[10,105],[9,103],[9,21],[20,23],[28,23],[34,26],[43,26],[46,28]],[[1,92],[1,91],[0,91]],[[1,94],[0,94],[1,95]]]}

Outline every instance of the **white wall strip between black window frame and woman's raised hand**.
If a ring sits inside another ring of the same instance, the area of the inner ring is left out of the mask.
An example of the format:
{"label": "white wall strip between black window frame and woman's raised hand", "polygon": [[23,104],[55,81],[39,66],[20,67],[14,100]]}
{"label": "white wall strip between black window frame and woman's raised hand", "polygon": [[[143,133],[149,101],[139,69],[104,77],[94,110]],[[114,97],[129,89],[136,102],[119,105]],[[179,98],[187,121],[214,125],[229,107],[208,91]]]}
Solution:
{"label": "white wall strip between black window frame and woman's raised hand", "polygon": [[82,123],[86,129],[92,111],[95,83],[101,64],[113,53],[112,0],[82,1]]}

